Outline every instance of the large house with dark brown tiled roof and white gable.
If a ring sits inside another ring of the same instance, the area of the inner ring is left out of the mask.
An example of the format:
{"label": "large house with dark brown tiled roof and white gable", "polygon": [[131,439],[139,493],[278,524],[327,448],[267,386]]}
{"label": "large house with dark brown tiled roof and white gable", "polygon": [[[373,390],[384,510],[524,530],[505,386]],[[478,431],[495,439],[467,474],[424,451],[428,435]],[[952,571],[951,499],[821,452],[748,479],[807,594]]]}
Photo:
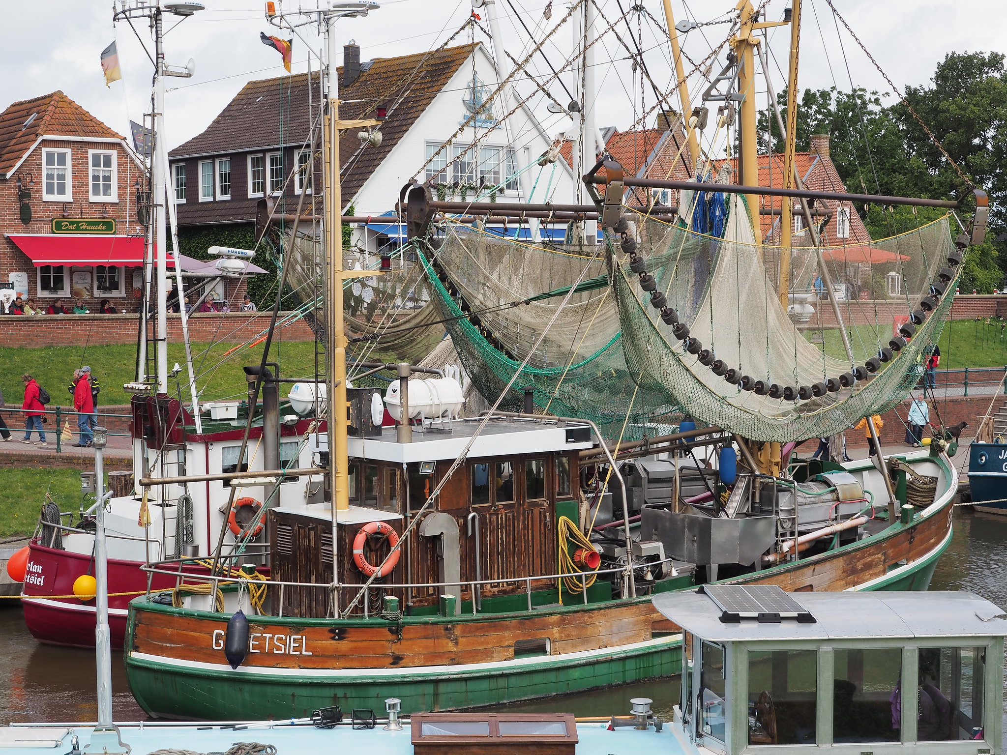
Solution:
{"label": "large house with dark brown tiled roof and white gable", "polygon": [[[522,185],[524,179],[507,177],[547,152],[553,138],[527,106],[520,105],[509,123],[512,133],[522,135],[521,143],[507,144],[508,131],[496,128],[497,119],[512,110],[513,103],[498,98],[491,106],[482,106],[492,89],[484,82],[499,80],[482,44],[361,61],[359,47],[350,43],[343,48],[343,60],[338,68],[340,117],[384,114],[385,118],[376,129],[380,142],[362,140],[356,129],[342,132],[339,141],[343,210],[352,206],[356,215],[375,217],[374,222],[354,228],[359,248],[378,252],[398,243],[398,228],[379,217],[393,209],[400,189],[414,176],[449,196],[465,187],[461,190],[471,198],[481,187],[495,184],[500,184],[495,191],[500,201],[517,201],[528,193],[534,177],[528,186]],[[309,192],[304,197],[305,213],[321,214],[320,192],[311,193],[313,185],[321,185],[321,161],[317,153],[312,161],[307,148],[311,115],[318,112],[321,98],[317,74],[249,82],[205,131],[171,150],[170,171],[183,234],[201,230],[202,239],[229,230],[251,234],[260,199],[273,197],[277,211],[289,214],[296,211],[304,189]],[[452,139],[473,109],[477,115],[473,124]],[[320,146],[316,149],[320,152]],[[428,159],[429,165],[420,172]],[[308,162],[314,167],[310,181],[300,176],[288,181],[292,167]],[[538,169],[533,167],[532,172]],[[552,201],[570,201],[570,167],[561,163],[556,172],[550,183]],[[543,179],[542,185],[546,183]]]}

